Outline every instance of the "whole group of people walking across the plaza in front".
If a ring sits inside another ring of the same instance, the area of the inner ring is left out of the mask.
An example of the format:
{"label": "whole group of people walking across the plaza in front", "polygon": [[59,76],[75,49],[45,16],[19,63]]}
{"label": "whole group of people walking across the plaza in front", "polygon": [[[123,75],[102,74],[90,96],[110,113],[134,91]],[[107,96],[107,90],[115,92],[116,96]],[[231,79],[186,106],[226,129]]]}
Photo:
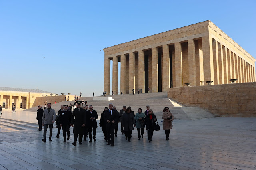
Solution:
{"label": "whole group of people walking across the plaza in front", "polygon": [[[98,114],[96,110],[93,110],[92,105],[82,105],[82,101],[76,101],[77,107],[74,109],[73,113],[68,109],[68,105],[61,105],[61,109],[58,111],[57,119],[55,110],[51,108],[51,103],[47,103],[47,109],[43,110],[38,106],[38,114],[36,119],[38,119],[39,131],[42,130],[42,125],[44,126],[44,135],[43,142],[46,142],[46,132],[47,128],[50,128],[49,141],[52,141],[52,128],[53,123],[56,120],[58,128],[58,133],[56,135],[59,138],[60,130],[62,127],[64,141],[70,139],[70,126],[74,127],[74,142],[72,143],[76,146],[77,138],[79,144],[82,144],[82,138],[86,141],[86,138],[89,135],[89,142],[96,141],[96,128]],[[146,132],[148,136],[148,141],[152,142],[152,136],[154,132],[154,125],[157,122],[156,115],[149,106],[146,106],[146,111],[142,111],[141,108],[138,109],[138,112],[134,114],[131,107],[123,106],[119,112],[116,110],[116,107],[112,103],[108,107],[104,108],[104,111],[101,113],[100,118],[100,127],[104,134],[105,142],[110,146],[114,146],[115,137],[117,137],[118,123],[121,122],[121,132],[125,134],[125,139],[128,142],[131,142],[132,130],[134,127],[137,128],[138,140],[144,136],[144,128],[146,127]],[[163,119],[163,129],[165,130],[166,140],[169,140],[170,129],[172,128],[172,121],[174,116],[169,111],[169,108],[166,107],[162,115]],[[93,132],[93,134],[92,134]],[[67,138],[66,138],[67,134]]]}

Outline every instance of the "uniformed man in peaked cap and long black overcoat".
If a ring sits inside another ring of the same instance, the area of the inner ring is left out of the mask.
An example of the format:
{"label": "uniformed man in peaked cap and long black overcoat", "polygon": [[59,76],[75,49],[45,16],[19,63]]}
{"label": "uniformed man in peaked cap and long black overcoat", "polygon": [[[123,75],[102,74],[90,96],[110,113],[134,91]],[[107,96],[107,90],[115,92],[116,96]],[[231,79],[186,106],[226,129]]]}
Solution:
{"label": "uniformed man in peaked cap and long black overcoat", "polygon": [[71,120],[71,126],[74,127],[73,133],[74,133],[74,143],[72,143],[74,146],[76,146],[77,137],[79,135],[78,141],[79,144],[82,144],[82,137],[84,134],[84,127],[86,123],[86,116],[85,116],[85,110],[81,108],[82,101],[76,101],[77,108],[74,109],[72,120]]}

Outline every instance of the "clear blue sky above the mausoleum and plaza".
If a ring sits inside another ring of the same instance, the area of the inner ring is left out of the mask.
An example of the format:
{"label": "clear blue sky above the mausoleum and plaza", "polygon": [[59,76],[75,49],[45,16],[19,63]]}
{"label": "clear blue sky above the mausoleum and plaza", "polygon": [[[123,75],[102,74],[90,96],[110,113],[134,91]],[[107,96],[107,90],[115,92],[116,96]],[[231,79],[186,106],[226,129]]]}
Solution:
{"label": "clear blue sky above the mausoleum and plaza", "polygon": [[0,0],[0,87],[101,95],[103,48],[206,20],[255,58],[255,9],[256,0]]}

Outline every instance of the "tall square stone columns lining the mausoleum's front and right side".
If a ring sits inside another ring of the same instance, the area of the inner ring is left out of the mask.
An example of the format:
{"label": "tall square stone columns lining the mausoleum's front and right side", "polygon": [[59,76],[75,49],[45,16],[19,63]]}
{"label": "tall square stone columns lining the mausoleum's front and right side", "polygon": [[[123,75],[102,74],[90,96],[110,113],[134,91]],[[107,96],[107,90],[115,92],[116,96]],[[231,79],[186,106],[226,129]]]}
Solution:
{"label": "tall square stone columns lining the mausoleum's front and right side", "polygon": [[[196,81],[198,77],[200,81],[213,81],[212,84],[226,84],[229,79],[238,79],[238,83],[255,81],[255,69],[252,65],[244,61],[233,51],[226,48],[222,43],[212,39],[209,35],[202,37],[202,43],[198,43],[199,52],[196,53],[195,40],[188,40],[188,73],[189,82],[195,85],[201,85]],[[174,43],[174,87],[182,87],[182,42]],[[170,58],[169,45],[162,45],[163,53],[163,91],[168,91],[170,88]],[[145,51],[138,51],[138,88],[145,92]],[[152,91],[158,92],[158,48],[152,45]],[[119,56],[114,56],[113,60],[113,78],[112,90],[114,94],[118,93],[118,57],[121,62],[121,79],[120,91],[126,92],[126,85],[129,86],[129,93],[135,89],[135,53],[129,52],[129,66],[126,65],[126,54],[121,53]],[[199,55],[196,61],[196,55]],[[105,57],[104,63],[104,90],[110,93],[110,58]],[[196,62],[199,63],[198,68]],[[129,77],[126,77],[126,70],[129,70]],[[129,83],[126,83],[126,81]]]}

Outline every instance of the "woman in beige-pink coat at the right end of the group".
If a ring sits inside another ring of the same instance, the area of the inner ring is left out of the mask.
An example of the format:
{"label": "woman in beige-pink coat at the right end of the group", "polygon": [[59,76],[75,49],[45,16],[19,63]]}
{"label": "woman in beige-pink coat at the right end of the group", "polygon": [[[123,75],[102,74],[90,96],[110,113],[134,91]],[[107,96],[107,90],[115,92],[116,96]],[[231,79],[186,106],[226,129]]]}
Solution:
{"label": "woman in beige-pink coat at the right end of the group", "polygon": [[172,129],[172,121],[174,116],[169,111],[169,107],[165,108],[165,112],[163,113],[163,129],[165,130],[166,140],[169,140],[170,130]]}

